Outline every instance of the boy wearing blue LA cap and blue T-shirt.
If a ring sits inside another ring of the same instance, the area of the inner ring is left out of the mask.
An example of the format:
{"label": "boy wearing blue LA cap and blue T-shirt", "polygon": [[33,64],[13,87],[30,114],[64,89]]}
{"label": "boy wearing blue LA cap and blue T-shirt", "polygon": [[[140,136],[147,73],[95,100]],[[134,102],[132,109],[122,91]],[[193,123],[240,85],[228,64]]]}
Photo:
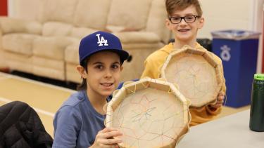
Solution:
{"label": "boy wearing blue LA cap and blue T-shirt", "polygon": [[117,88],[122,62],[128,53],[118,37],[95,32],[84,37],[79,47],[82,76],[78,92],[66,100],[54,118],[52,147],[118,147],[122,135],[115,128],[105,128],[103,105]]}

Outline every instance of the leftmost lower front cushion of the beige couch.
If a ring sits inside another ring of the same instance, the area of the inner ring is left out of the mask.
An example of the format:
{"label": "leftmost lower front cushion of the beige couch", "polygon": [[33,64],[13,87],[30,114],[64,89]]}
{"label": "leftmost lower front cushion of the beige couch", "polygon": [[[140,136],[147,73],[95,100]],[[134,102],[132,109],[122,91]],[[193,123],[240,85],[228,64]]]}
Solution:
{"label": "leftmost lower front cushion of the beige couch", "polygon": [[32,55],[32,43],[38,37],[34,34],[6,34],[3,36],[3,49],[13,53]]}

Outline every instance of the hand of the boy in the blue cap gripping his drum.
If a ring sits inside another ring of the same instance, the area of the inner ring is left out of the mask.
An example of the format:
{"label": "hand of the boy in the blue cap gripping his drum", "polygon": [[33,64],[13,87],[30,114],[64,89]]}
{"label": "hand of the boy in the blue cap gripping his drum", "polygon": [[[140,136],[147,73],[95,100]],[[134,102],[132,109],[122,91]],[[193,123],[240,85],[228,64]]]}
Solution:
{"label": "hand of the boy in the blue cap gripping his drum", "polygon": [[[100,130],[94,140],[94,144],[91,147],[119,147],[118,143],[121,143],[122,140],[118,136],[122,135],[118,129],[115,128],[103,128]],[[115,137],[115,138],[113,138]]]}

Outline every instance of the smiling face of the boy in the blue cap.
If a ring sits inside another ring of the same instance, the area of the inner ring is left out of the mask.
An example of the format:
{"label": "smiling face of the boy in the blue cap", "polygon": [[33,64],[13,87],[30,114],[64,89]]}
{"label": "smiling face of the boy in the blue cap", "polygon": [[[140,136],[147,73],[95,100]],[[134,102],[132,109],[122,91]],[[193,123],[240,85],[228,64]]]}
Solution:
{"label": "smiling face of the boy in the blue cap", "polygon": [[83,67],[79,69],[82,78],[87,81],[87,93],[105,99],[118,87],[122,67],[118,54],[102,51],[89,58],[87,72]]}

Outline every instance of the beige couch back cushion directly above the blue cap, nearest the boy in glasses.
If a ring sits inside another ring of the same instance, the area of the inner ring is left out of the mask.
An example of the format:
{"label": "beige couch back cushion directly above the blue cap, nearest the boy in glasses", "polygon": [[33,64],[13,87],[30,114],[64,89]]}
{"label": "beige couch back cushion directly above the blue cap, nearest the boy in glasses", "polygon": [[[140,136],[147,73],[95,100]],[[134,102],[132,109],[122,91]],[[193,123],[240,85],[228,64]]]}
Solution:
{"label": "beige couch back cushion directly above the blue cap, nearest the boy in glasses", "polygon": [[107,29],[140,30],[146,27],[152,0],[112,0]]}

